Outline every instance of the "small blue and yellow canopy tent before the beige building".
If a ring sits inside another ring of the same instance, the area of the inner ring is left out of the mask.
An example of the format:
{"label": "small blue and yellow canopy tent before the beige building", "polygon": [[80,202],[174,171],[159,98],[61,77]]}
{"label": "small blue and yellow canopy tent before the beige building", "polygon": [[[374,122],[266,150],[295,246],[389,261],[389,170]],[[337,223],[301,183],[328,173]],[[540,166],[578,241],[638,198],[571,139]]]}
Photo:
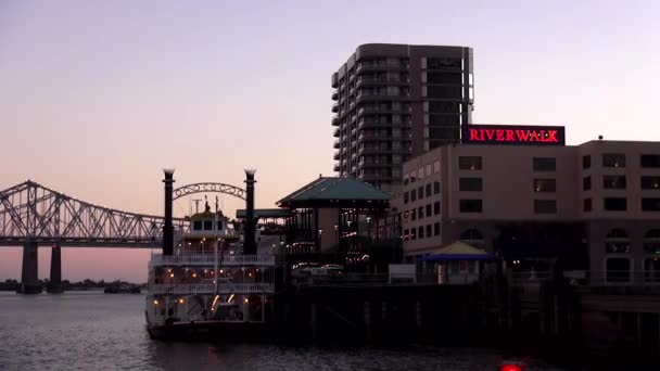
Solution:
{"label": "small blue and yellow canopy tent before the beige building", "polygon": [[456,241],[422,257],[424,264],[434,264],[434,273],[441,284],[469,284],[479,280],[483,267],[491,256],[483,250]]}

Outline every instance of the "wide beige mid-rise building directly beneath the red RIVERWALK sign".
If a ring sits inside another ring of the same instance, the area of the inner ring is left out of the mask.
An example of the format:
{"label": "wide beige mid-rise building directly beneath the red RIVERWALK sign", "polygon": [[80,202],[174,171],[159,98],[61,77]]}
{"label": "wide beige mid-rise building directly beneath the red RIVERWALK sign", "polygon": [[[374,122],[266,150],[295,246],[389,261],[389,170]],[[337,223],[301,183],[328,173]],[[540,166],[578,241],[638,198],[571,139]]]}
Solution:
{"label": "wide beige mid-rise building directly beneath the red RIVERWALK sign", "polygon": [[395,204],[406,255],[464,241],[519,264],[563,257],[621,280],[660,278],[660,142],[529,145],[502,128],[490,144],[466,140],[404,164]]}

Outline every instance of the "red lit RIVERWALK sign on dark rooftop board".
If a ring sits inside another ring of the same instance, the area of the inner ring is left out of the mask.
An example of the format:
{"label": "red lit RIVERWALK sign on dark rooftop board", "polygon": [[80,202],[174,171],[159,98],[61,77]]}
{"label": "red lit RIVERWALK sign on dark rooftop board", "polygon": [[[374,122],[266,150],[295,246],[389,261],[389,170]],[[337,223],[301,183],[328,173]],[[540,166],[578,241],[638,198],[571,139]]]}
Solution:
{"label": "red lit RIVERWALK sign on dark rooftop board", "polygon": [[563,126],[465,125],[465,144],[566,145]]}

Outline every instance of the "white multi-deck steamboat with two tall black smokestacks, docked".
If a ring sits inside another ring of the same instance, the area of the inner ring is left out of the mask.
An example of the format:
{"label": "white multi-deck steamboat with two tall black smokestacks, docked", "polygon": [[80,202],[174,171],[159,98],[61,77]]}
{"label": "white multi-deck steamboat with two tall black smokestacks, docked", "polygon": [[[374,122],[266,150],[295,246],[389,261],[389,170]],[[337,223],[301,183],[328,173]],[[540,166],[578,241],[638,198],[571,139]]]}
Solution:
{"label": "white multi-deck steamboat with two tall black smokestacks, docked", "polygon": [[[190,230],[175,234],[172,172],[166,171],[164,180],[163,253],[153,254],[149,261],[145,319],[150,336],[182,340],[230,331],[254,338],[254,333],[268,333],[275,295],[272,252],[256,254],[250,220],[245,233],[239,233],[217,202],[215,212],[206,202],[203,212],[188,217]],[[250,186],[248,206],[253,210]]]}

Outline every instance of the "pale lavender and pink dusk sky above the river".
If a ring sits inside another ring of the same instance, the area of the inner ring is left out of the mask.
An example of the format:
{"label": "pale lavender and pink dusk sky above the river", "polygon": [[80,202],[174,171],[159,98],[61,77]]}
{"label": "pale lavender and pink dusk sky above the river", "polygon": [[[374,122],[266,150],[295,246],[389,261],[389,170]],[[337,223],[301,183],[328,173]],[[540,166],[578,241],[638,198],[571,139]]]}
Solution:
{"label": "pale lavender and pink dusk sky above the river", "polygon": [[[274,207],[333,174],[330,76],[369,42],[473,48],[474,123],[660,140],[659,16],[652,0],[2,0],[0,190],[162,214],[162,168],[242,187],[253,167]],[[21,254],[0,247],[0,280]],[[63,278],[144,281],[149,254],[64,247]]]}

